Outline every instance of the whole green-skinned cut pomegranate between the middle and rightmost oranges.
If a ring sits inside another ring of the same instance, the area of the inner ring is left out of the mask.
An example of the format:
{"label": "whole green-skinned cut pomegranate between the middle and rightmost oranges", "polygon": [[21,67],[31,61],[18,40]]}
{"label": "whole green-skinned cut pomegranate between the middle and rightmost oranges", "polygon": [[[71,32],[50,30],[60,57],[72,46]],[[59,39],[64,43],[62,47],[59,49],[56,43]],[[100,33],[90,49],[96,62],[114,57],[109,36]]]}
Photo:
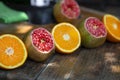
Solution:
{"label": "whole green-skinned cut pomegranate between the middle and rightmost oranges", "polygon": [[94,48],[102,45],[107,36],[104,24],[96,17],[88,17],[80,23],[81,43],[86,48]]}

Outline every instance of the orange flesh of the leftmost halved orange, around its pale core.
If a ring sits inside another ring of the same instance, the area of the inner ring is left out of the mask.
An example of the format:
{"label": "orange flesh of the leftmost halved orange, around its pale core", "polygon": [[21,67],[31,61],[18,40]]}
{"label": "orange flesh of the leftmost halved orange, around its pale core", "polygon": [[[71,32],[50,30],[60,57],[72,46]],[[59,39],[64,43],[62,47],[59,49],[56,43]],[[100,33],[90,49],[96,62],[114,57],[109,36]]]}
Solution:
{"label": "orange flesh of the leftmost halved orange, around its pale core", "polygon": [[[6,54],[6,49],[14,50],[12,55]],[[24,58],[24,48],[17,39],[12,37],[3,37],[0,39],[0,62],[6,66],[19,64]]]}

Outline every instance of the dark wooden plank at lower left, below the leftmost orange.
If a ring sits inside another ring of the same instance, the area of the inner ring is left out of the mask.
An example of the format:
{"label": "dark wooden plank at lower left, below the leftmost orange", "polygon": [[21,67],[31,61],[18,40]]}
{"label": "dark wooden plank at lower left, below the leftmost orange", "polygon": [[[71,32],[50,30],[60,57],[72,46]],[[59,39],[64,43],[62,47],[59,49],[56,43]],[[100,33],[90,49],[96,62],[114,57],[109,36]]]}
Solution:
{"label": "dark wooden plank at lower left, below the leftmost orange", "polygon": [[35,80],[47,66],[47,63],[47,61],[41,63],[27,60],[24,65],[17,69],[0,69],[0,80]]}

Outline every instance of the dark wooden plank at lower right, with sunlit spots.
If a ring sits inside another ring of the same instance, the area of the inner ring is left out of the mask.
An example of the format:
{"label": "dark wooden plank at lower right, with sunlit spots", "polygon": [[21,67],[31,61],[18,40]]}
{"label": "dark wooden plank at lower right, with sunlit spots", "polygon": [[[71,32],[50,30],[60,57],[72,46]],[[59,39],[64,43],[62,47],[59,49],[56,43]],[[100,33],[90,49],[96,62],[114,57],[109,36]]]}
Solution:
{"label": "dark wooden plank at lower right, with sunlit spots", "polygon": [[69,80],[120,80],[120,43],[82,48]]}

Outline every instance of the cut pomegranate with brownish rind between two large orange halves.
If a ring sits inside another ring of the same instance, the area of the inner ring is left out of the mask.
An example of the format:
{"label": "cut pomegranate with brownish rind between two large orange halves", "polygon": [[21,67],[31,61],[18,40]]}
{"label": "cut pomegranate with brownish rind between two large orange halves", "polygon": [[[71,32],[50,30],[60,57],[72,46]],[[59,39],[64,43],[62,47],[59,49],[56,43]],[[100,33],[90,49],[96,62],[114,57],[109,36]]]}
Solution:
{"label": "cut pomegranate with brownish rind between two large orange halves", "polygon": [[44,61],[54,52],[54,40],[45,28],[32,30],[25,40],[29,57],[35,61]]}

